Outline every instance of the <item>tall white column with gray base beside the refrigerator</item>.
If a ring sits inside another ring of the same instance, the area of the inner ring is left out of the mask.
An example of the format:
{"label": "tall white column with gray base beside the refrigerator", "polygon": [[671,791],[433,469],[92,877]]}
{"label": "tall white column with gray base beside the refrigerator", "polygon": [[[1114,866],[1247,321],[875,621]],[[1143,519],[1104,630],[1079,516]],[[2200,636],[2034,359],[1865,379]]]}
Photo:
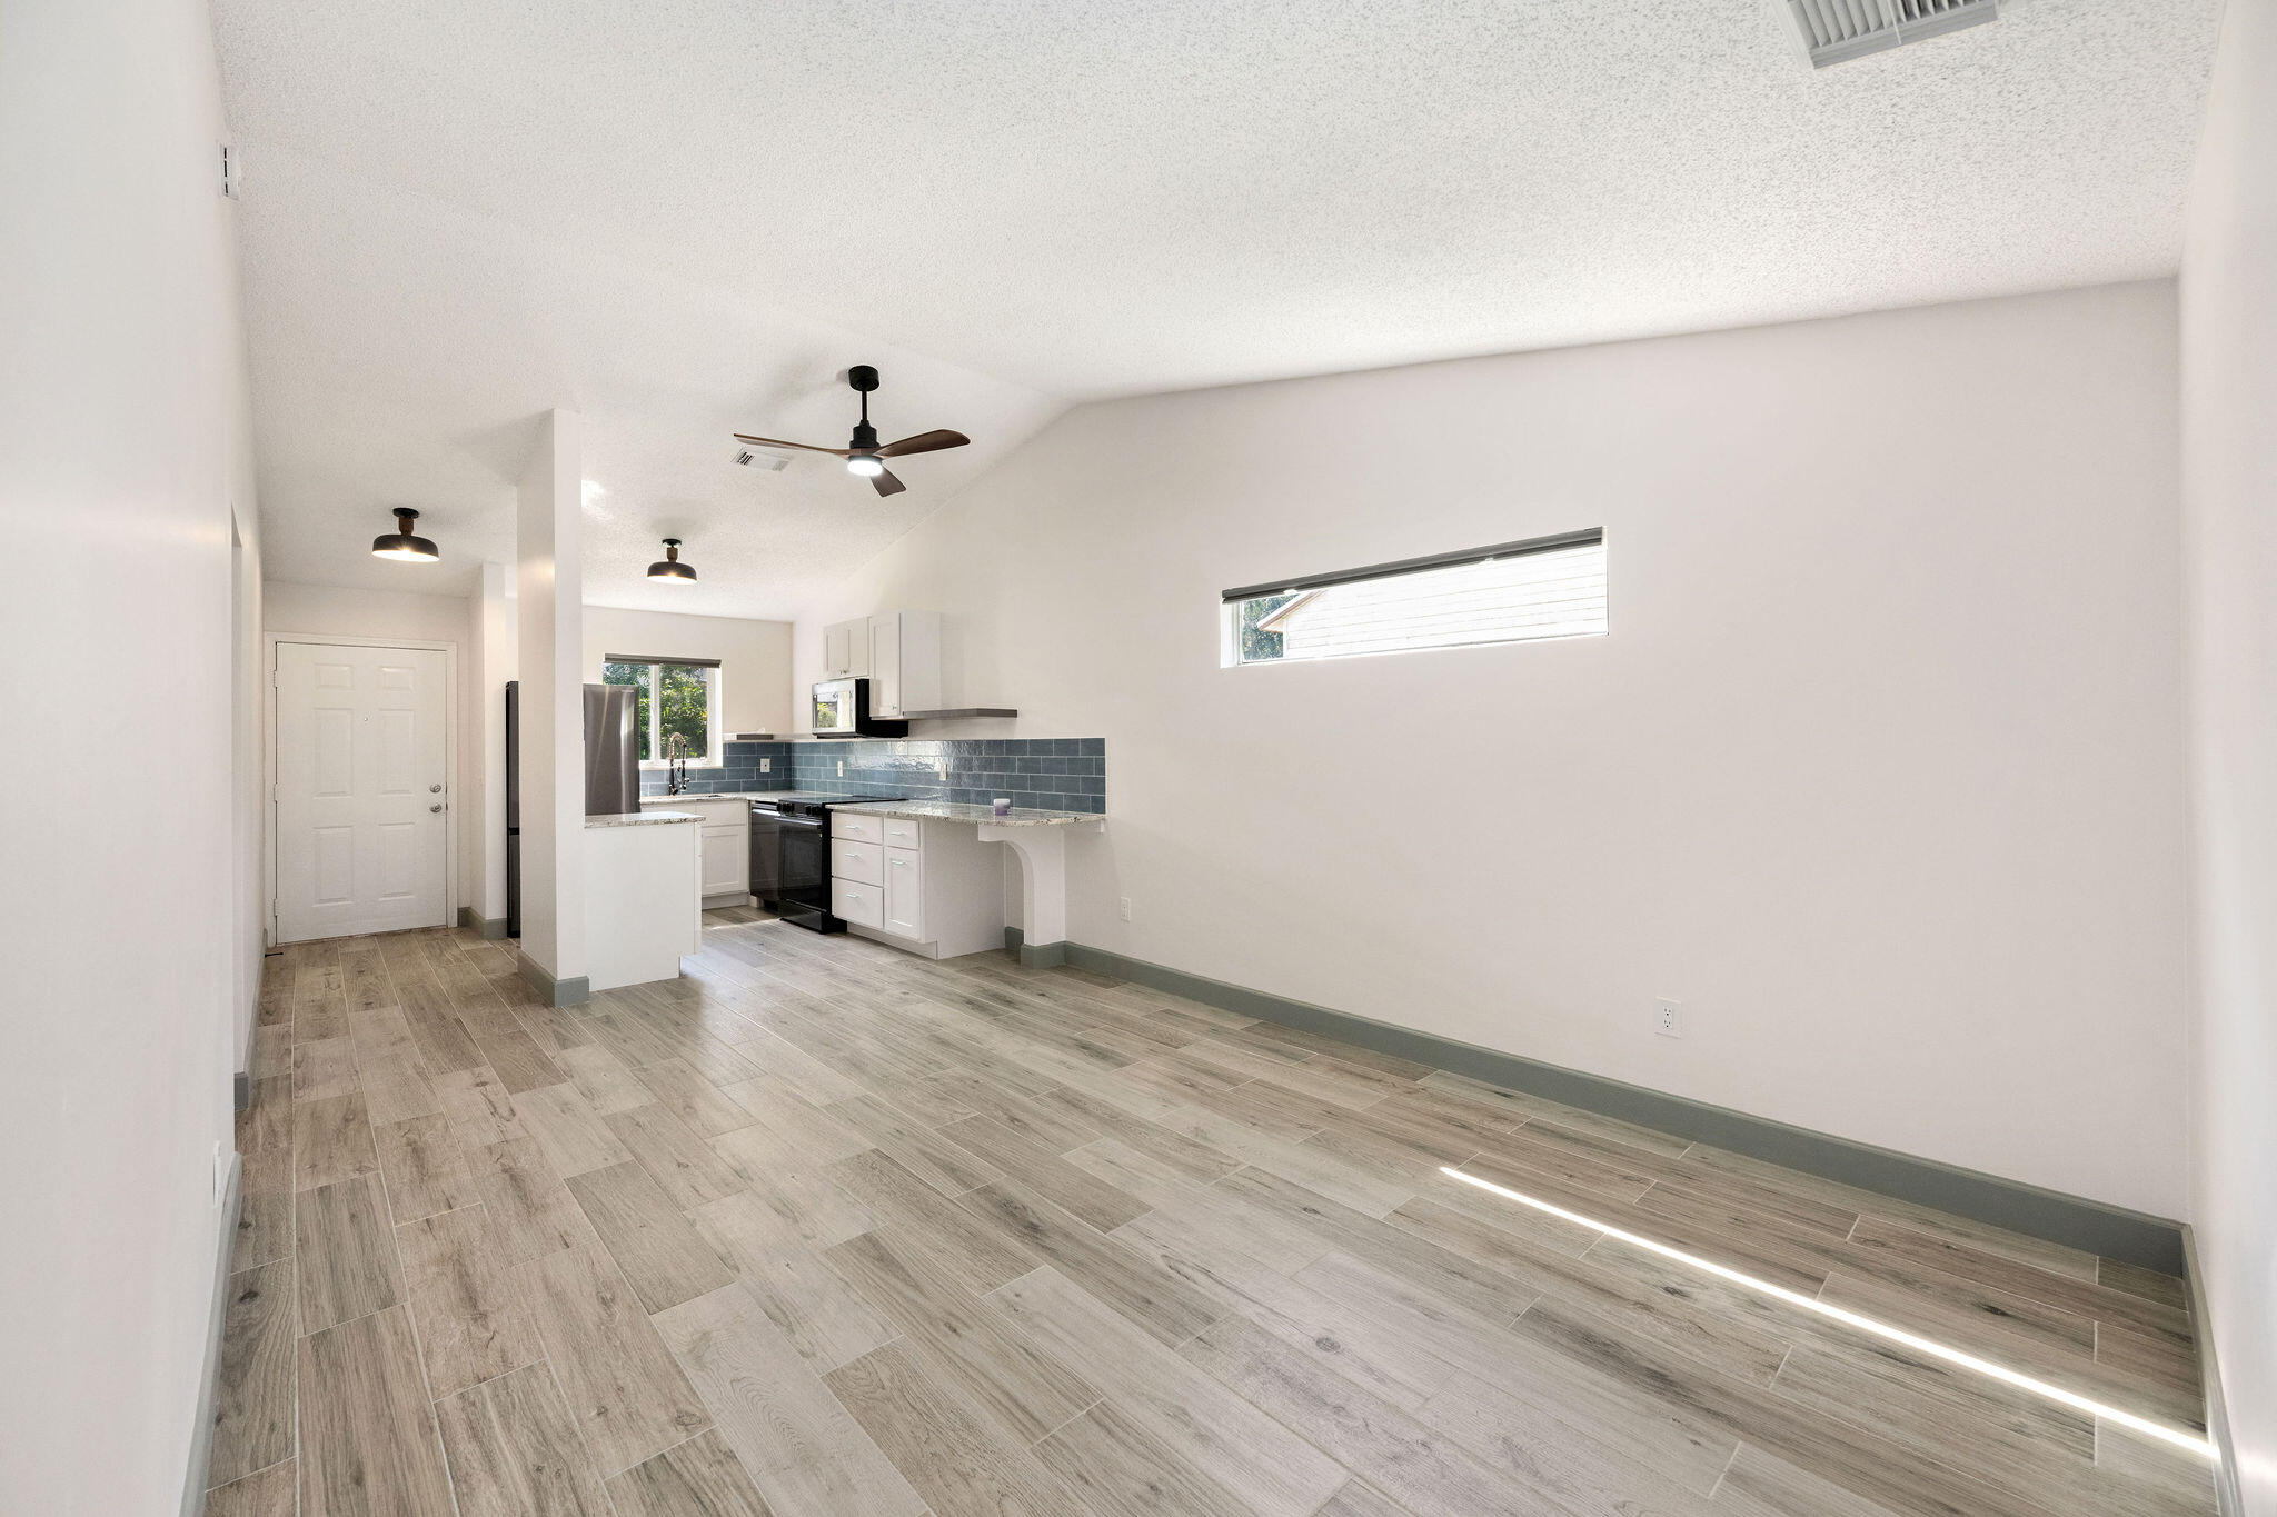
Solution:
{"label": "tall white column with gray base beside the refrigerator", "polygon": [[521,680],[521,973],[556,1005],[585,983],[585,632],[578,414],[549,412],[515,514]]}

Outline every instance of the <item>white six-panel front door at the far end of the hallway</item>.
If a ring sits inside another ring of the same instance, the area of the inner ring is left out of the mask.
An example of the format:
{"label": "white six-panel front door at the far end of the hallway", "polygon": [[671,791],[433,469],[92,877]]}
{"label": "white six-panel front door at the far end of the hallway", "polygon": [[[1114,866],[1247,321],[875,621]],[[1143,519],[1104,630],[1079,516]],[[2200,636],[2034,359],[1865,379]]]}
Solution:
{"label": "white six-panel front door at the far end of the hallway", "polygon": [[278,942],[444,923],[444,655],[278,644]]}

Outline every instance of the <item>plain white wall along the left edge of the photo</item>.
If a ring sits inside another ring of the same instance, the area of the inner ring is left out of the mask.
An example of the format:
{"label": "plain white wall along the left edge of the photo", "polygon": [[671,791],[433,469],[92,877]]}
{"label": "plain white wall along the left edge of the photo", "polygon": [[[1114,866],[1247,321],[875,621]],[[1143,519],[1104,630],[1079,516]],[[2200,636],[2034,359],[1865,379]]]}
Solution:
{"label": "plain white wall along the left edge of the photo", "polygon": [[232,507],[248,571],[257,534],[221,139],[203,5],[0,7],[0,1512],[178,1508],[225,1246]]}

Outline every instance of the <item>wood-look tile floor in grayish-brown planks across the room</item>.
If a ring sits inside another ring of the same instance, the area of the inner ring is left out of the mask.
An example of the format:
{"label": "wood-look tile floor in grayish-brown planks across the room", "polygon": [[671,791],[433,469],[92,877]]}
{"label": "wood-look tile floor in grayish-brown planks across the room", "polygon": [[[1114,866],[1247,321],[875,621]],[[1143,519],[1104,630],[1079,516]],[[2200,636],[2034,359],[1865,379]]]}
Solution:
{"label": "wood-look tile floor in grayish-brown planks across the room", "polygon": [[269,960],[214,1517],[2211,1512],[2177,1280],[1273,1023],[713,914]]}

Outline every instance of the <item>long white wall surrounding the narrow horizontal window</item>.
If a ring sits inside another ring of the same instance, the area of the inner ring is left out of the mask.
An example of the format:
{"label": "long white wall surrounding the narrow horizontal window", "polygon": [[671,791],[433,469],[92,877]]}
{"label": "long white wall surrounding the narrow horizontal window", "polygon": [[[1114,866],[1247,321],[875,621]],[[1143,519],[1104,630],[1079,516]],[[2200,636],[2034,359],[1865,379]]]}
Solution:
{"label": "long white wall surrounding the narrow horizontal window", "polygon": [[[1104,737],[1077,942],[2179,1215],[2175,407],[2165,282],[1102,403],[792,682],[940,610],[970,735]],[[1227,585],[1585,525],[1610,637],[1218,666]]]}

